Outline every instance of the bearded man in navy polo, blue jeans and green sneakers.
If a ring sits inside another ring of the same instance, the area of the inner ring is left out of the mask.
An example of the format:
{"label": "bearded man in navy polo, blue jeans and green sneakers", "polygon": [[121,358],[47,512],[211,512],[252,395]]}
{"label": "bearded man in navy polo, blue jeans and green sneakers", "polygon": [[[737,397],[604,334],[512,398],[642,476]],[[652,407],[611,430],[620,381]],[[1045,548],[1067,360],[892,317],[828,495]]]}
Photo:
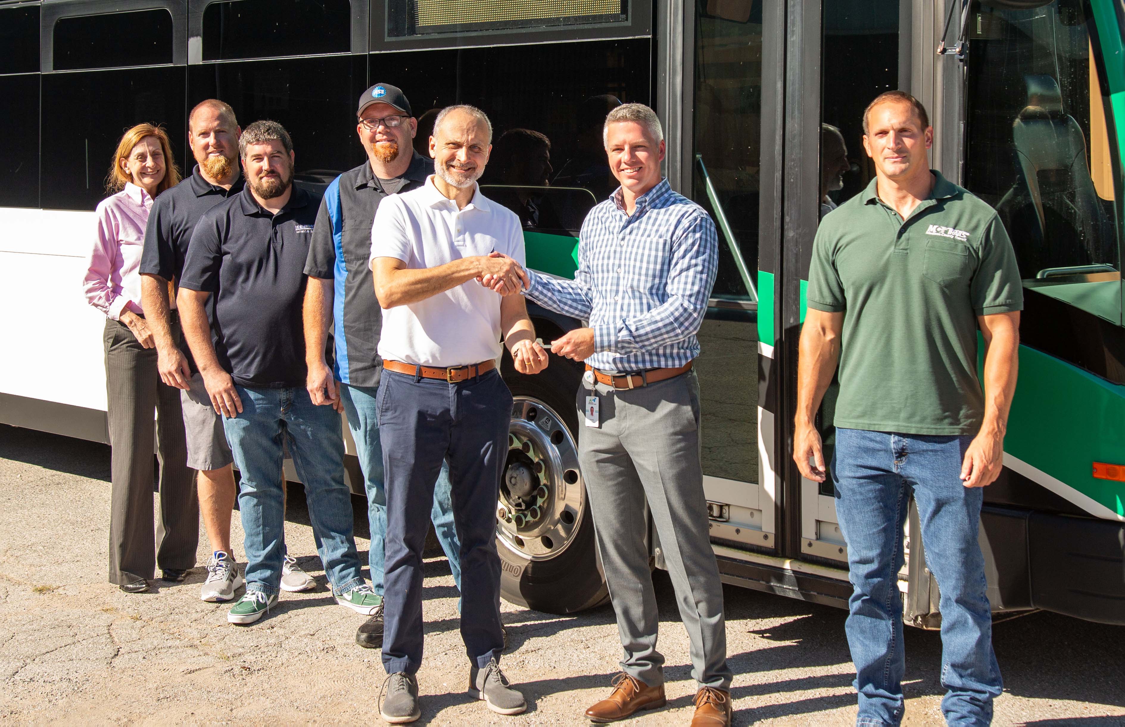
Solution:
{"label": "bearded man in navy polo, blue jeans and green sneakers", "polygon": [[[305,484],[317,551],[336,601],[371,615],[380,599],[360,574],[344,484],[340,417],[305,389],[302,300],[320,200],[292,185],[292,142],[255,121],[238,142],[246,188],[204,215],[177,301],[183,331],[242,473],[246,592],[232,624],[277,603],[285,558],[282,437]],[[212,325],[204,310],[214,297]]]}

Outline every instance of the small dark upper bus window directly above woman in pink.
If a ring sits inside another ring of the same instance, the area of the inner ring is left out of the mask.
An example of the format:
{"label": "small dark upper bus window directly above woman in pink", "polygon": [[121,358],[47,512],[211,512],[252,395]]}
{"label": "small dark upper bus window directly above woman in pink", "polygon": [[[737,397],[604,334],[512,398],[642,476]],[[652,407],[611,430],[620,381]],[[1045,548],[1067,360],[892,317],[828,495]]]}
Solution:
{"label": "small dark upper bus window directly above woman in pink", "polygon": [[172,15],[163,8],[60,18],[54,70],[111,69],[172,62]]}

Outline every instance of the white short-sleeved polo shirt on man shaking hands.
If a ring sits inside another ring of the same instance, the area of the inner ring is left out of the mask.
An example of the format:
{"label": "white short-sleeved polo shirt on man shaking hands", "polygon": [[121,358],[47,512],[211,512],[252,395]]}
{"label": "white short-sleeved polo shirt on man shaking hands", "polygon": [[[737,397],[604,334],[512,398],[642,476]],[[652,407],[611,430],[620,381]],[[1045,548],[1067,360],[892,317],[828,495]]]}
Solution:
{"label": "white short-sleeved polo shirt on man shaking hands", "polygon": [[[515,212],[477,187],[465,209],[425,184],[379,203],[371,226],[371,258],[407,267],[444,265],[496,251],[524,265],[523,229]],[[423,301],[382,310],[379,356],[423,366],[464,366],[500,357],[501,296],[475,280]]]}

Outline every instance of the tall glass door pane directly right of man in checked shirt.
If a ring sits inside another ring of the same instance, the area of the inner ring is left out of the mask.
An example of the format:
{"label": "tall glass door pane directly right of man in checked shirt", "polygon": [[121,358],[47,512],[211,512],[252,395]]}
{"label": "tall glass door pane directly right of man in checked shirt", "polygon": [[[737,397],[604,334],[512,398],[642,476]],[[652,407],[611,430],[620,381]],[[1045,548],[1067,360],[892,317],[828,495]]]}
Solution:
{"label": "tall glass door pane directly right of man in checked shirt", "polygon": [[712,307],[695,360],[703,474],[758,482],[760,0],[696,0],[692,187],[719,231]]}

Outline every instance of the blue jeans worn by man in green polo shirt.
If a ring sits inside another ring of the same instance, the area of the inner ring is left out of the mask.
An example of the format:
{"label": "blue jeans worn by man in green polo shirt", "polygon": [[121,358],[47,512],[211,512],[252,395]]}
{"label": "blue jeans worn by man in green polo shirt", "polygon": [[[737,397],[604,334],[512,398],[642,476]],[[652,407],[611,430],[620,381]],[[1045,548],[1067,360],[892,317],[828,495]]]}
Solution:
{"label": "blue jeans worn by man in green polo shirt", "polygon": [[926,565],[942,593],[942,712],[950,725],[988,725],[1000,696],[992,612],[976,540],[983,488],[966,488],[961,465],[971,436],[837,429],[831,478],[854,587],[847,642],[860,693],[857,725],[902,719],[902,527],[918,506]]}

